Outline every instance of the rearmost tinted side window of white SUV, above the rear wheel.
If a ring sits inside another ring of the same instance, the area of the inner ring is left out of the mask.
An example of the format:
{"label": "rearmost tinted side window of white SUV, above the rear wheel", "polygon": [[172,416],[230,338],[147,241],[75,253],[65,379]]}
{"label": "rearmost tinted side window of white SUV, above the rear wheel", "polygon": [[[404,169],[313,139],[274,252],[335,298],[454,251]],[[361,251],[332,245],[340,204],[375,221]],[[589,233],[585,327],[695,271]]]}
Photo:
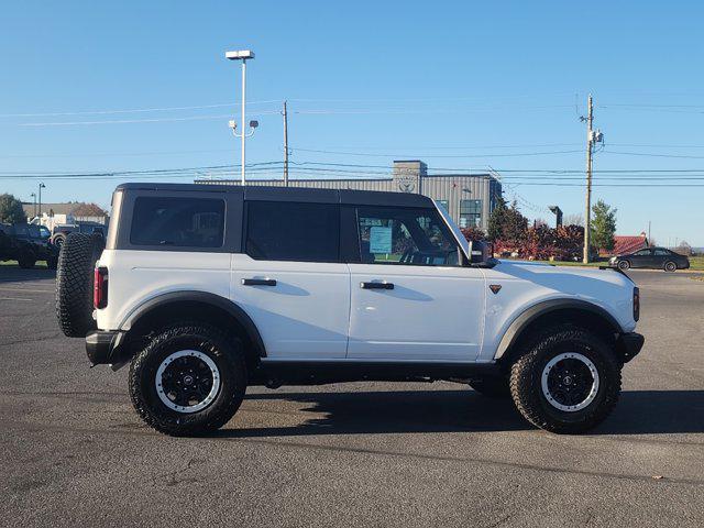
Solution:
{"label": "rearmost tinted side window of white SUV, above the rear wheel", "polygon": [[134,202],[134,245],[221,248],[223,235],[223,200],[139,197]]}

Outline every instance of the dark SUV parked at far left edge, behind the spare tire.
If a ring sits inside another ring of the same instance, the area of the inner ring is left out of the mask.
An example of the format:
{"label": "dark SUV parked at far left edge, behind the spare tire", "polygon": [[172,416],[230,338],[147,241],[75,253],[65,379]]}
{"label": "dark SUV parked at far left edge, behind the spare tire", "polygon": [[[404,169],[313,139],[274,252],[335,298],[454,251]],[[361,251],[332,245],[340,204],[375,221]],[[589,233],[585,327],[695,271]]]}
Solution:
{"label": "dark SUV parked at far left edge, behind the spare tire", "polygon": [[18,261],[20,267],[34,267],[36,261],[46,261],[56,270],[58,248],[50,242],[48,229],[32,223],[0,224],[0,261]]}

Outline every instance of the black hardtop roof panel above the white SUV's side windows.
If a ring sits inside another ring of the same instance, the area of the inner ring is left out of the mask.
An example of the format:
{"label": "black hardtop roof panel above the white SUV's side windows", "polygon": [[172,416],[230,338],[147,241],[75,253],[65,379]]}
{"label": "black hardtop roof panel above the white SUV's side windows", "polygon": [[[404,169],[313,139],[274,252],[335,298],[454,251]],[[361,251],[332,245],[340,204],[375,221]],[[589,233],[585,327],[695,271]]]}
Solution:
{"label": "black hardtop roof panel above the white SUV's side windows", "polygon": [[164,193],[229,193],[244,195],[244,200],[349,204],[366,206],[435,207],[427,196],[378,190],[311,189],[306,187],[270,187],[261,185],[202,185],[134,183],[118,185],[116,190],[151,190]]}

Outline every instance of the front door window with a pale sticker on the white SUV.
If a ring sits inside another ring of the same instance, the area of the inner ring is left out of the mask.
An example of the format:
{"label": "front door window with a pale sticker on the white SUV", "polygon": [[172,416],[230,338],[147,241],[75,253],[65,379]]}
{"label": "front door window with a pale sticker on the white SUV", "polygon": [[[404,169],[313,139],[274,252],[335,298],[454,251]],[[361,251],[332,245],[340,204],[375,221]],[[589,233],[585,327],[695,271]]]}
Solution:
{"label": "front door window with a pale sticker on the white SUV", "polygon": [[361,262],[457,266],[459,248],[435,210],[358,208]]}

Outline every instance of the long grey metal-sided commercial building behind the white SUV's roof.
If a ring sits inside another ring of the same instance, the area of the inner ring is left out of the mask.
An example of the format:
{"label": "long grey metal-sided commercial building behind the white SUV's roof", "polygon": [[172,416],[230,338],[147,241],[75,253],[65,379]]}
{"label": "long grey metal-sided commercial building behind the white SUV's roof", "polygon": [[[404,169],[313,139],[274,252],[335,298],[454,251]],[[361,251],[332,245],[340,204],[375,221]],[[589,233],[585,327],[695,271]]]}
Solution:
{"label": "long grey metal-sided commercial building behind the white SUV's roof", "polygon": [[[197,184],[240,185],[233,179],[197,179]],[[246,185],[283,186],[282,179],[248,179]],[[488,216],[502,194],[495,174],[428,174],[428,165],[418,160],[394,162],[389,177],[289,179],[289,187],[323,189],[386,190],[418,193],[439,201],[461,227],[486,231]]]}

